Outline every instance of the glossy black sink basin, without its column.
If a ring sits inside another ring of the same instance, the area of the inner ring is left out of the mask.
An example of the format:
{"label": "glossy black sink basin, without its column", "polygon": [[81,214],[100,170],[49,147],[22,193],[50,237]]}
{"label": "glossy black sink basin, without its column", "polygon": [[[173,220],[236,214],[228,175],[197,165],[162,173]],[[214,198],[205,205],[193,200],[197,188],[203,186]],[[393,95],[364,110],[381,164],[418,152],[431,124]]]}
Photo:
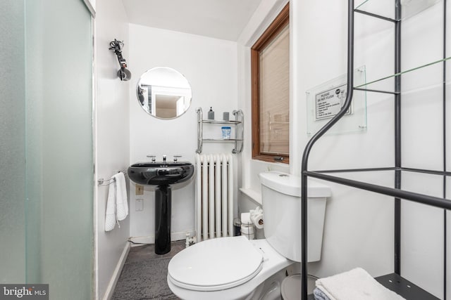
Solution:
{"label": "glossy black sink basin, without its column", "polygon": [[128,167],[128,178],[141,185],[170,185],[194,174],[190,162],[139,162]]}

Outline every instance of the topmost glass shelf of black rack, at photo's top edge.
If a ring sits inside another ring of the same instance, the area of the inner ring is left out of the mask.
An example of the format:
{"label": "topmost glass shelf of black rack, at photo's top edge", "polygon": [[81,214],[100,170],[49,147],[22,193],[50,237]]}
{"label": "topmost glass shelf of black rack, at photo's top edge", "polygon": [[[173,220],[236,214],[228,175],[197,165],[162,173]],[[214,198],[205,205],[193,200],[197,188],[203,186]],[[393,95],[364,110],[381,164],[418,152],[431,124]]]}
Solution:
{"label": "topmost glass shelf of black rack, at photo's top edge", "polygon": [[381,15],[393,20],[410,18],[427,8],[434,6],[441,0],[401,0],[401,18],[395,18],[396,4],[393,0],[364,0],[357,1],[356,10]]}

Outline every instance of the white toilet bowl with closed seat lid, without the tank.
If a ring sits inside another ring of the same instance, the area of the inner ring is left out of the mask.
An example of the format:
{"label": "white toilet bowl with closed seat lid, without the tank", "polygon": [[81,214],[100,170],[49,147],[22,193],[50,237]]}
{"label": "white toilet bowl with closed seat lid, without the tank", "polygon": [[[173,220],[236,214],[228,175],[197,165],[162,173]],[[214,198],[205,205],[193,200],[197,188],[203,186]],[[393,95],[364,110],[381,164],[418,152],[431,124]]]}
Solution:
{"label": "white toilet bowl with closed seat lid, without the tank", "polygon": [[266,240],[218,237],[175,255],[168,265],[168,285],[181,299],[254,299],[254,291],[282,270],[280,287],[292,263]]}

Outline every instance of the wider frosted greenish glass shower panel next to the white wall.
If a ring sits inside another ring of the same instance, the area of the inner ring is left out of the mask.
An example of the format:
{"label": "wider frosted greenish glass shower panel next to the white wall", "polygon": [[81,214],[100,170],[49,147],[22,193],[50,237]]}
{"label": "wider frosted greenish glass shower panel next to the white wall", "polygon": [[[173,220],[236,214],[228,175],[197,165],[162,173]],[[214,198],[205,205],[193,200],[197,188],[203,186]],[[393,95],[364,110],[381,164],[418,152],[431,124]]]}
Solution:
{"label": "wider frosted greenish glass shower panel next to the white wall", "polygon": [[82,0],[25,0],[26,280],[92,298],[92,24]]}

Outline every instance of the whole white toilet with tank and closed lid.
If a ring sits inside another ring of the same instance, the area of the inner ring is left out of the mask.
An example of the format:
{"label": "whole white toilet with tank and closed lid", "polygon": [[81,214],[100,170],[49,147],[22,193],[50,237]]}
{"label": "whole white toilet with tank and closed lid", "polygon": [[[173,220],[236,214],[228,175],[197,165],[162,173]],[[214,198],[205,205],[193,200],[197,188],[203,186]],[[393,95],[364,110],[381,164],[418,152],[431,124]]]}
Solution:
{"label": "whole white toilet with tank and closed lid", "polygon": [[[287,268],[301,261],[301,178],[278,171],[259,177],[265,239],[218,237],[182,250],[168,265],[168,285],[176,296],[280,299]],[[308,195],[307,261],[319,261],[330,188],[309,181]]]}

